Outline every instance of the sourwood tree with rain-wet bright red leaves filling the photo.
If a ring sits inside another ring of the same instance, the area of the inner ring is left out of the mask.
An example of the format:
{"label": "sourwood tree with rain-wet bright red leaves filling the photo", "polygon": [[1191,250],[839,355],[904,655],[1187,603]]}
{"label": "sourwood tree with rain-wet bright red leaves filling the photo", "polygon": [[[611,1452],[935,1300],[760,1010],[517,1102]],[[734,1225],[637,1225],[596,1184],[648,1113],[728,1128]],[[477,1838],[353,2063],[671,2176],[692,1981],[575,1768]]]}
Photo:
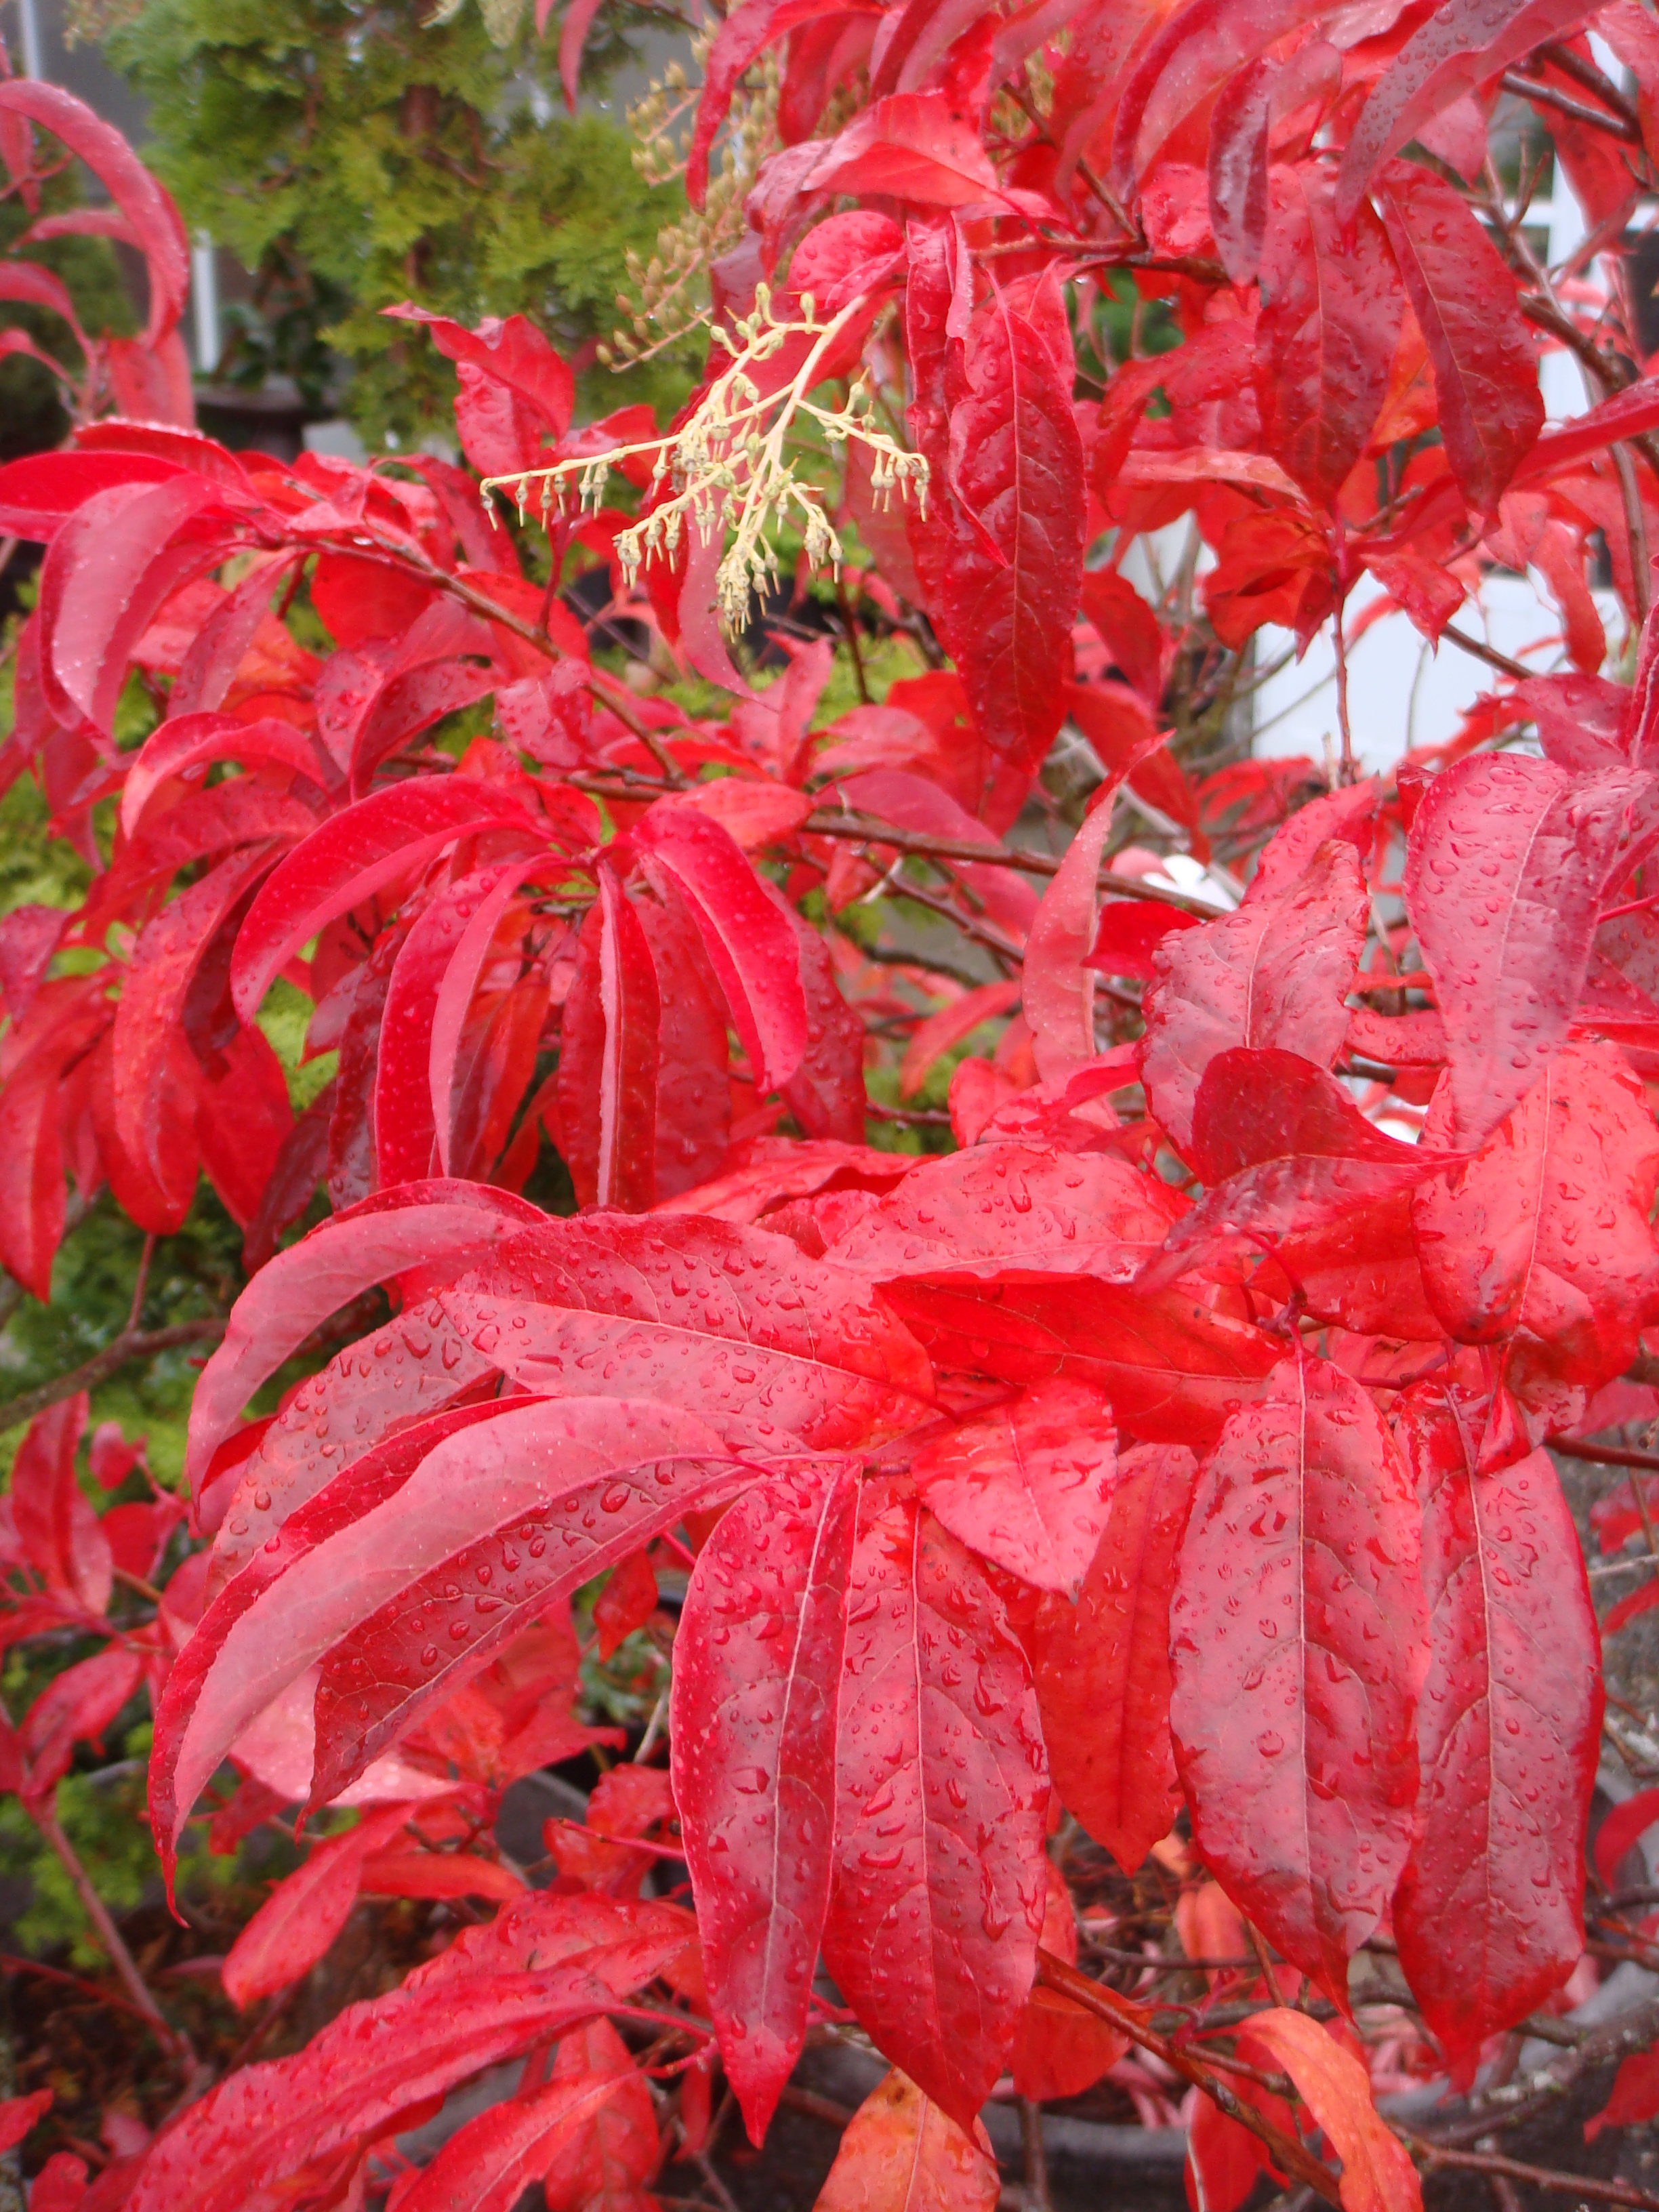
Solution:
{"label": "sourwood tree with rain-wet bright red leaves filling the photo", "polygon": [[[531,319],[407,305],[467,469],[93,400],[0,469],[44,546],[0,772],[91,872],[0,922],[0,1259],[49,1301],[100,1190],[166,1241],[204,1177],[246,1237],[188,1502],[100,1513],[142,1482],[106,1425],[82,1475],[137,1301],[27,1407],[0,1619],[75,1657],[0,1781],[75,1867],[55,1790],[144,1699],[168,1880],[204,1818],[356,1812],[223,1958],[243,2008],[358,1896],[465,1902],[219,2079],[104,1913],[168,2095],[35,2201],[637,2205],[717,2070],[759,2143],[814,2035],[891,2066],[832,2212],[989,2212],[987,2099],[1102,2079],[1186,2097],[1199,2205],[1504,2179],[1471,2141],[1615,2048],[1601,2124],[1659,2106],[1624,2028],[1551,2017],[1646,1955],[1586,1951],[1601,1628],[1551,1451],[1617,1471],[1610,1553],[1650,1533],[1659,1458],[1597,1438],[1659,1416],[1659,20],[710,29],[686,192],[723,133],[754,175],[650,279],[708,319],[672,420],[577,422]],[[35,128],[100,166],[150,261],[122,358],[164,365],[166,195],[64,95],[0,124],[13,177]],[[1544,347],[1586,380],[1555,425]],[[1526,664],[1493,568],[1559,617]],[[790,575],[765,672],[739,633]],[[1363,774],[1389,611],[1491,688]],[[639,630],[699,686],[630,681]],[[1272,637],[1321,630],[1329,763],[1237,757]],[[1659,1579],[1610,1564],[1617,1632]],[[595,1747],[577,1597],[602,1650],[670,1597],[672,1686],[533,1885],[493,1823]],[[1657,1809],[1599,1825],[1599,1913],[1644,1909]],[[1495,2088],[1533,2020],[1557,2073]],[[1473,2124],[1378,2110],[1433,2077]]]}

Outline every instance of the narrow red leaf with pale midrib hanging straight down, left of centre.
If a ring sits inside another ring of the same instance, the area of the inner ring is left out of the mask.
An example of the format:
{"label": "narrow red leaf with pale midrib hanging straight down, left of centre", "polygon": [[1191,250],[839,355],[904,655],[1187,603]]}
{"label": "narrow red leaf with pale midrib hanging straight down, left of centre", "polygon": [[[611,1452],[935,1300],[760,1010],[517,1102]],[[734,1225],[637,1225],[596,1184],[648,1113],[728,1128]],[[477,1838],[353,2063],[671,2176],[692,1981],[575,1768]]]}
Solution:
{"label": "narrow red leaf with pale midrib hanging straight down, left of centre", "polygon": [[560,1024],[560,1130],[577,1206],[644,1214],[657,1201],[659,1040],[650,942],[615,869],[599,863]]}

